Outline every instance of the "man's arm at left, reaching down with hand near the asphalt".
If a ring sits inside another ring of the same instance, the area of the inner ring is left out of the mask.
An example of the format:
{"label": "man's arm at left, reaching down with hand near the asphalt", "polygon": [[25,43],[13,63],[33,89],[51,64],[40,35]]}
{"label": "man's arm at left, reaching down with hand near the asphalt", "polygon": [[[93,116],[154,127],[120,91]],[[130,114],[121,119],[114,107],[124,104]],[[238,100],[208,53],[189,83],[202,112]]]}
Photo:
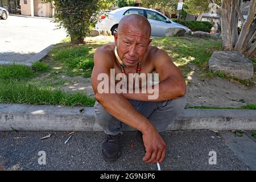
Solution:
{"label": "man's arm at left, reaching down with hand near the asphalt", "polygon": [[122,94],[98,93],[97,86],[101,80],[97,80],[97,77],[100,73],[106,73],[110,79],[110,68],[113,67],[113,59],[114,57],[108,55],[102,48],[97,49],[94,53],[94,67],[91,78],[96,100],[113,117],[142,132],[144,146],[146,147],[146,155],[143,158],[145,162],[155,163],[159,161],[159,163],[162,163],[165,157],[166,143],[160,137],[154,125],[144,115],[138,113]]}

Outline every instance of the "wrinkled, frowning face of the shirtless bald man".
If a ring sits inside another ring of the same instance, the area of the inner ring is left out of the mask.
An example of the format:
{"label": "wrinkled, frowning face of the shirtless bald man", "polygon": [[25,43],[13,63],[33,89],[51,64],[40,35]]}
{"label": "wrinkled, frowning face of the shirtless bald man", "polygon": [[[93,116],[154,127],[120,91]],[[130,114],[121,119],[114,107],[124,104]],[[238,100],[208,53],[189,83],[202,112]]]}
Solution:
{"label": "wrinkled, frowning face of the shirtless bald man", "polygon": [[114,34],[118,55],[127,67],[134,67],[141,61],[151,42],[145,28],[127,26]]}

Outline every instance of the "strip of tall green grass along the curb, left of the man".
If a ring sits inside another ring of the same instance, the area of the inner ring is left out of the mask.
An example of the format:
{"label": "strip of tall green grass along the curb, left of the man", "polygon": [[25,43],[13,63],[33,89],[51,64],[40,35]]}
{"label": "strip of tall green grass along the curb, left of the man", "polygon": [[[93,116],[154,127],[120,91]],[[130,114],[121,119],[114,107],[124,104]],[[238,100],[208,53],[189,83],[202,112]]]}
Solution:
{"label": "strip of tall green grass along the curb, left of the man", "polygon": [[80,92],[68,93],[60,89],[38,88],[26,82],[1,80],[0,102],[9,104],[93,106],[95,100]]}

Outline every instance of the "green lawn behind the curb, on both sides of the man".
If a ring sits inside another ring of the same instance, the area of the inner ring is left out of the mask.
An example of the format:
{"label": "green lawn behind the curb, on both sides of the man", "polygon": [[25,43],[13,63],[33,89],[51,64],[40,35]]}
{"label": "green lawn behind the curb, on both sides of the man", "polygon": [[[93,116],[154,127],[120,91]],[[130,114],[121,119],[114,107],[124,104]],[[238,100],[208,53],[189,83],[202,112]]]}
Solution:
{"label": "green lawn behind the curb, on both sides of the man", "polygon": [[[216,76],[216,73],[208,71],[208,60],[213,51],[221,49],[220,38],[185,36],[152,39],[152,45],[164,49],[183,71],[185,78],[191,72],[189,65],[196,65],[202,77]],[[86,44],[72,45],[67,38],[56,44],[42,62],[35,63],[31,68],[22,65],[0,66],[0,102],[93,106],[93,97],[63,88],[74,84],[77,78],[89,78],[94,52],[98,47],[113,41],[110,36],[97,36],[86,38]]]}

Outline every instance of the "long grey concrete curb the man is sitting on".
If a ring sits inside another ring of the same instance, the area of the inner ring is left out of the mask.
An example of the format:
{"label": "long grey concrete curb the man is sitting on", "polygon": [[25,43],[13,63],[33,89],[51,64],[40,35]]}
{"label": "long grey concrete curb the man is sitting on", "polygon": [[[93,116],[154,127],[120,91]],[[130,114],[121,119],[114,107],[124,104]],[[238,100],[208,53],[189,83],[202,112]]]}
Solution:
{"label": "long grey concrete curb the man is sitting on", "polygon": [[[80,109],[84,108],[84,113]],[[102,131],[93,107],[0,105],[0,131]],[[255,110],[186,109],[167,130],[256,130]],[[134,131],[131,127],[123,131]]]}

